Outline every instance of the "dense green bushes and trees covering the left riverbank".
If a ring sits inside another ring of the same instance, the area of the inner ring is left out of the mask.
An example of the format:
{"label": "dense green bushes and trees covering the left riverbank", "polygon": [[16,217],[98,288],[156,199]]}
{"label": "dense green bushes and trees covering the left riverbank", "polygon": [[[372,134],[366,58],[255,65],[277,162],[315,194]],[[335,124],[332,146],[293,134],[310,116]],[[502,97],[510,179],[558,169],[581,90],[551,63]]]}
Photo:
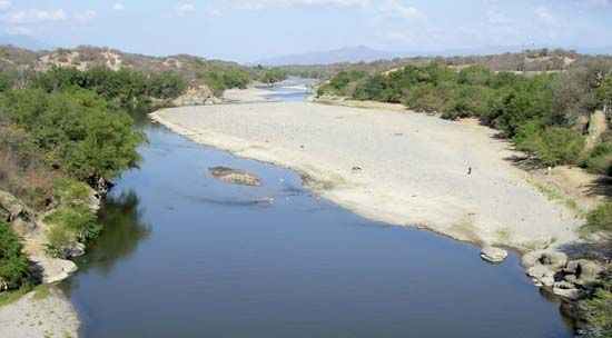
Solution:
{"label": "dense green bushes and trees covering the left riverbank", "polygon": [[[140,160],[136,147],[145,136],[118,107],[145,97],[175,96],[177,83],[172,74],[139,77],[97,68],[2,73],[0,189],[36,212],[52,210],[45,219],[51,226],[51,254],[67,257],[78,241],[98,235],[92,188],[106,187]],[[0,228],[0,279],[9,289],[20,288],[29,264],[10,226],[2,221]]]}

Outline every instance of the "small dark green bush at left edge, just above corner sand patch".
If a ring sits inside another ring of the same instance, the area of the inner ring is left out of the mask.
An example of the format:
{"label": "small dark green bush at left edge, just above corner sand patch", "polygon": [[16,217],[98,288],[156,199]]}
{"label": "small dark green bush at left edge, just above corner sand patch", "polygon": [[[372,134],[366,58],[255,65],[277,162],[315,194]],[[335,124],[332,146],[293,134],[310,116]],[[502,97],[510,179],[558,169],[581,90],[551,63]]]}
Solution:
{"label": "small dark green bush at left edge, just above corner sand patch", "polygon": [[28,279],[30,265],[21,250],[19,236],[0,220],[0,290],[19,288]]}

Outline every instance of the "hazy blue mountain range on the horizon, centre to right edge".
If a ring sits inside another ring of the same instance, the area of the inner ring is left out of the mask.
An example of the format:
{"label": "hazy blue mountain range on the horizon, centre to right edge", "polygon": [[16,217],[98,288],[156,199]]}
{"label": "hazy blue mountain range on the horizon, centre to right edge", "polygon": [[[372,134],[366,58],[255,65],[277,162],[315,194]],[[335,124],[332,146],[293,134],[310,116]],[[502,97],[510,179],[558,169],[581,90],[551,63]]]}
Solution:
{"label": "hazy blue mountain range on the horizon, centre to right edge", "polygon": [[[525,49],[543,48],[541,46],[490,46],[482,48],[465,48],[465,49],[448,49],[441,51],[384,51],[376,50],[365,46],[347,47],[340,49],[334,49],[328,51],[315,51],[298,54],[288,54],[283,57],[263,59],[247,64],[261,64],[268,67],[276,66],[303,66],[303,64],[330,64],[340,62],[372,62],[376,60],[389,60],[393,58],[409,58],[409,57],[452,57],[452,56],[483,56],[483,54],[499,54],[504,52],[521,52]],[[554,48],[554,47],[549,47]],[[604,48],[574,48],[567,47],[565,49],[574,49],[579,52],[586,54],[612,54],[612,47]]]}

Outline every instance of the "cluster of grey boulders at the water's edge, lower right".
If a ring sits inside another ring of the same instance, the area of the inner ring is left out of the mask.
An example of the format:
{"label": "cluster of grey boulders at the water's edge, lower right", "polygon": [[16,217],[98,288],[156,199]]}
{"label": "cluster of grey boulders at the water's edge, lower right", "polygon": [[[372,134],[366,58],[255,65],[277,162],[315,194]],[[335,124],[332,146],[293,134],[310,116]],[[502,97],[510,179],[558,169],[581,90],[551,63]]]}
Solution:
{"label": "cluster of grey boulders at the water's edge, lower right", "polygon": [[530,252],[523,264],[530,266],[526,274],[537,286],[552,288],[555,295],[567,299],[578,299],[588,287],[599,284],[604,272],[592,260],[569,260],[563,252]]}

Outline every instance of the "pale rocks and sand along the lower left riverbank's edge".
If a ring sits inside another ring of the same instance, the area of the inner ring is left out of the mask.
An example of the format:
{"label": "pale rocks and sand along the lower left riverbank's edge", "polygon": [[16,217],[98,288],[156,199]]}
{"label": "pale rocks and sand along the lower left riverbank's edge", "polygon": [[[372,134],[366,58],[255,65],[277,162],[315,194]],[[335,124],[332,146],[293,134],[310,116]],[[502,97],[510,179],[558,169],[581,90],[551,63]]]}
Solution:
{"label": "pale rocks and sand along the lower left riverbank's edge", "polygon": [[[100,200],[91,190],[89,207],[99,209]],[[75,307],[56,285],[78,270],[70,258],[85,255],[86,246],[77,242],[68,248],[67,259],[49,255],[47,232],[49,225],[19,199],[0,191],[0,217],[21,236],[23,251],[33,269],[33,279],[48,286],[45,297],[31,291],[19,300],[0,307],[0,337],[78,337],[80,320]]]}

